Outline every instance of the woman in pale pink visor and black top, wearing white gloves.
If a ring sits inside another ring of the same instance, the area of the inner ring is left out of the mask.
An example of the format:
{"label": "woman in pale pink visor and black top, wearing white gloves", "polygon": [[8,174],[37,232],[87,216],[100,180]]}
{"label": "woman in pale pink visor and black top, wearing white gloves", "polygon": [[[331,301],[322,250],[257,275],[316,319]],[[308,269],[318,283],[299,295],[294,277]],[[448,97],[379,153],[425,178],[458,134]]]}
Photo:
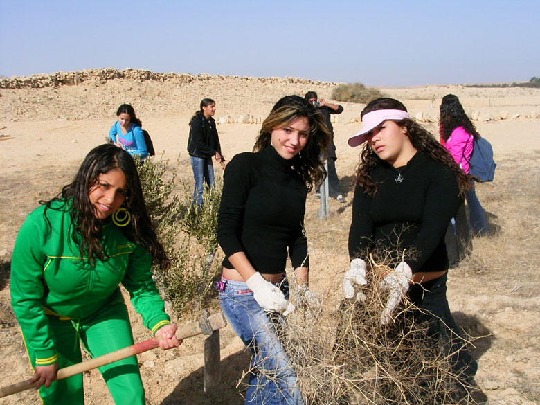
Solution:
{"label": "woman in pale pink visor and black top, wearing white gloves", "polygon": [[444,233],[469,181],[433,135],[409,118],[402,102],[379,98],[361,117],[361,131],[348,141],[352,147],[365,144],[355,179],[345,297],[363,297],[357,291],[367,283],[368,255],[375,249],[389,252],[394,271],[379,274],[377,282],[378,288],[390,290],[381,323],[393,323],[393,312],[407,294],[420,309],[415,319],[430,323],[429,333],[442,341],[467,387],[477,364],[463,349],[465,341],[449,309]]}

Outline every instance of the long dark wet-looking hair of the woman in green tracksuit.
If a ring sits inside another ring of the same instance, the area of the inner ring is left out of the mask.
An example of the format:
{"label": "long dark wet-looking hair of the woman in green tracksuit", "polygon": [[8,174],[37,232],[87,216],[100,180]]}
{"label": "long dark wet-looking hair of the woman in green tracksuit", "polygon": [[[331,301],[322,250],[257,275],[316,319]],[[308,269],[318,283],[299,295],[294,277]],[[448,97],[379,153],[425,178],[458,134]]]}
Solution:
{"label": "long dark wet-looking hair of the woman in green tracksuit", "polygon": [[152,255],[152,262],[161,269],[170,266],[170,259],[165,249],[157,240],[156,231],[150,215],[146,210],[141,179],[132,156],[115,145],[106,144],[94,147],[87,154],[75,174],[73,181],[62,188],[62,192],[51,201],[40,201],[48,209],[58,209],[51,206],[52,201],[68,204],[71,222],[71,239],[79,249],[81,260],[95,264],[96,260],[107,260],[108,246],[101,242],[103,220],[96,218],[96,208],[91,204],[89,192],[98,183],[100,174],[110,170],[120,169],[127,181],[127,196],[124,207],[131,213],[132,219],[128,226],[120,228],[125,236],[139,246],[143,246]]}

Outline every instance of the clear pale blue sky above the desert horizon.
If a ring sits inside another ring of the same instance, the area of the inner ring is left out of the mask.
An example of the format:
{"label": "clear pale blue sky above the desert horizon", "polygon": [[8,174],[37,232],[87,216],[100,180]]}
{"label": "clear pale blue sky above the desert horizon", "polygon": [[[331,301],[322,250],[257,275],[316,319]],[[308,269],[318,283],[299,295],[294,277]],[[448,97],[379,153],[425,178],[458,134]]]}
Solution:
{"label": "clear pale blue sky above the desert horizon", "polygon": [[0,75],[126,67],[411,86],[540,76],[540,1],[0,0]]}

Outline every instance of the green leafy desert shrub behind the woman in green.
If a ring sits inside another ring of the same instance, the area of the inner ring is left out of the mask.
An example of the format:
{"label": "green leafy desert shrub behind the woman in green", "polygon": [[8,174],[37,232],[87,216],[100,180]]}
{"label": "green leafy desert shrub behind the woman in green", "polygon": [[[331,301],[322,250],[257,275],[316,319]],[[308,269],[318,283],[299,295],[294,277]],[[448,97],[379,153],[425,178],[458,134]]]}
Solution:
{"label": "green leafy desert shrub behind the woman in green", "polygon": [[[139,167],[147,208],[158,228],[159,239],[173,259],[167,271],[154,267],[158,288],[177,314],[189,315],[210,305],[217,276],[214,261],[217,249],[217,208],[222,183],[206,189],[203,206],[192,204],[187,181],[177,181],[177,165],[168,170],[168,161],[148,159]],[[177,194],[177,189],[181,194]]]}

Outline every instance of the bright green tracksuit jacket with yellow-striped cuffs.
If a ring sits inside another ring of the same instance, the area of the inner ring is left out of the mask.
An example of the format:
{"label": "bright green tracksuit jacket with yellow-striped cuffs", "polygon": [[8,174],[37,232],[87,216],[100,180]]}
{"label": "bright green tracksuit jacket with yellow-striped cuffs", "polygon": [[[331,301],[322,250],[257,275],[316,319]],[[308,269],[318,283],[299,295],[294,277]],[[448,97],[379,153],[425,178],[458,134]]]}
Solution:
{"label": "bright green tracksuit jacket with yellow-striped cuffs", "polygon": [[46,213],[45,206],[30,213],[12,254],[11,303],[26,342],[36,353],[36,366],[58,359],[47,315],[84,323],[107,305],[123,300],[120,282],[152,333],[170,323],[152,280],[150,254],[106,220],[102,242],[108,260],[93,266],[81,262],[71,238],[70,205],[55,201]]}

